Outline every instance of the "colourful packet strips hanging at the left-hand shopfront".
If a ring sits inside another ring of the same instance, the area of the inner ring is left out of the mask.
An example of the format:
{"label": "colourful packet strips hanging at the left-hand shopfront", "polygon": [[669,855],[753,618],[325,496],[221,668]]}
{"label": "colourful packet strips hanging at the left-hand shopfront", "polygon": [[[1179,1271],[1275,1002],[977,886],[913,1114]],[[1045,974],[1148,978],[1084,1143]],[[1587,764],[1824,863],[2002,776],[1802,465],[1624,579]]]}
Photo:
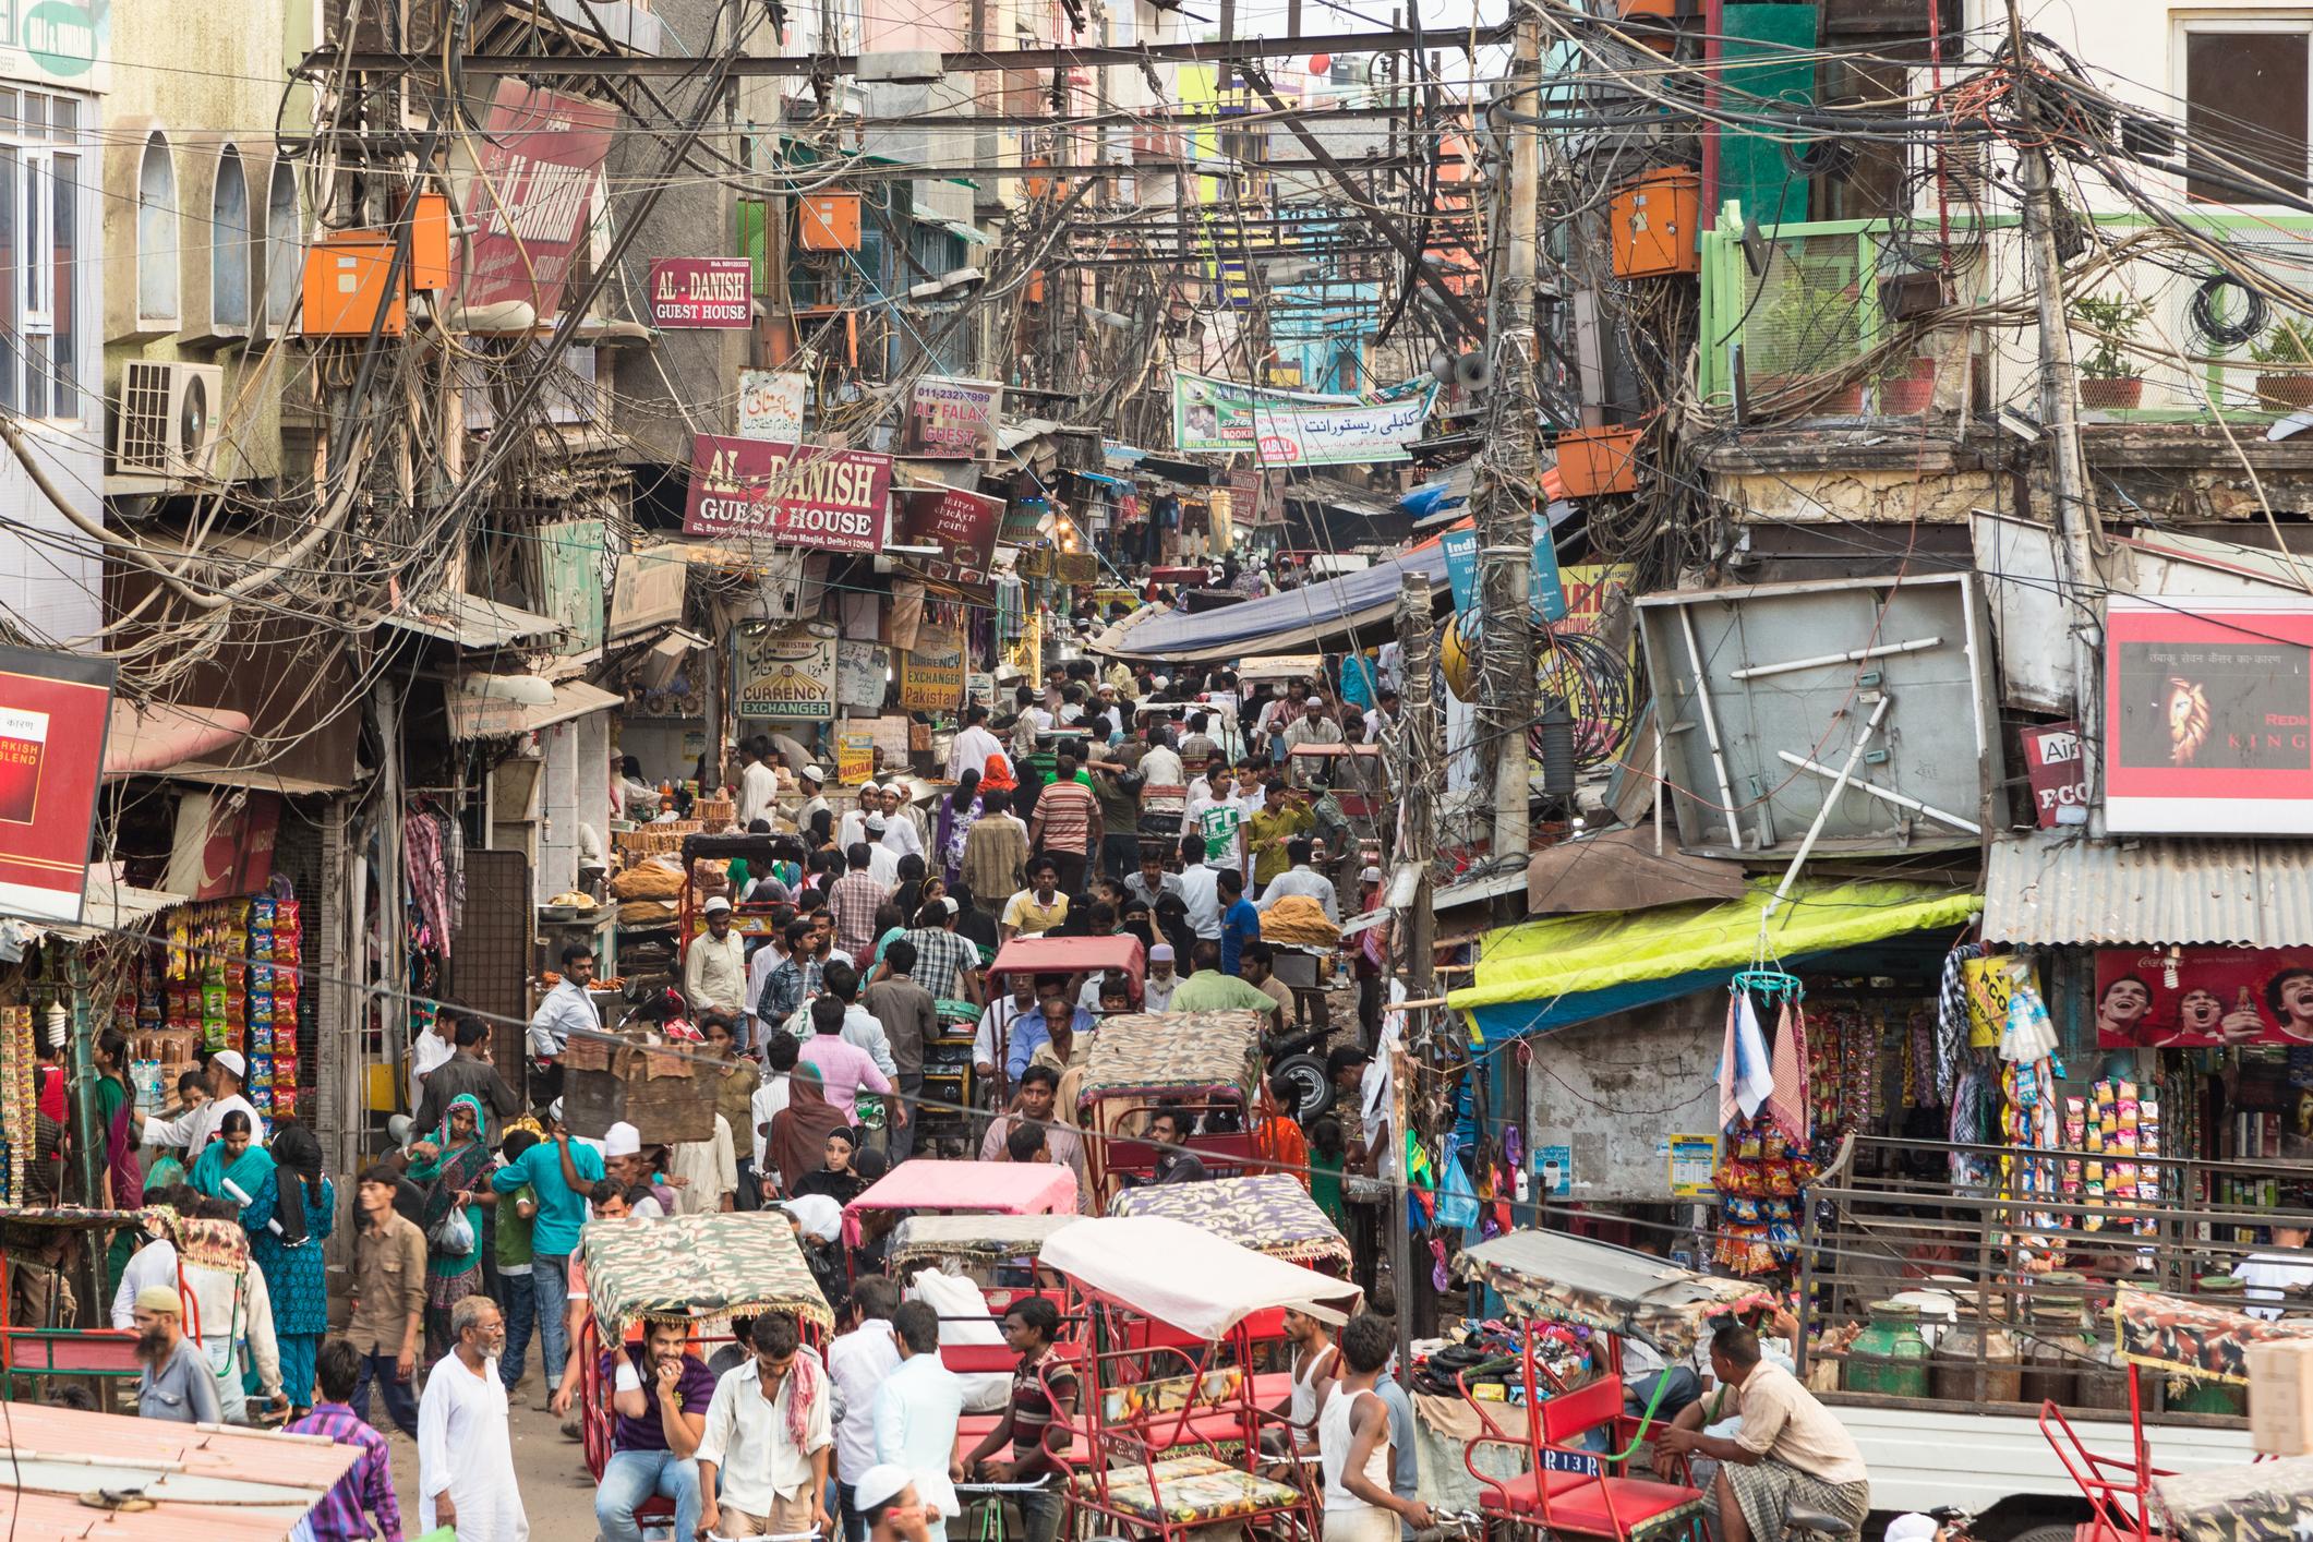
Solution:
{"label": "colourful packet strips hanging at the left-hand shopfront", "polygon": [[[303,957],[298,902],[259,895],[254,899],[206,899],[169,918],[167,966],[146,976],[136,1022],[148,1047],[164,1061],[155,1084],[173,1089],[167,1057],[178,1045],[238,1050],[250,1077],[243,1096],[268,1117],[298,1112],[296,1010]],[[150,1031],[143,1024],[160,1022]],[[187,1054],[190,1059],[190,1054]]]}

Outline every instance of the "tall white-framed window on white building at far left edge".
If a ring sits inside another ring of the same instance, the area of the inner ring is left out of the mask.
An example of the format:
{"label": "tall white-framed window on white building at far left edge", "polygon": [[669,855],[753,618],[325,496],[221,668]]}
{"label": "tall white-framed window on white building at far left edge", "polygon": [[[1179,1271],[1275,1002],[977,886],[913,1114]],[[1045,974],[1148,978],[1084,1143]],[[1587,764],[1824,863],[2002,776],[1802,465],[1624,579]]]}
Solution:
{"label": "tall white-framed window on white building at far left edge", "polygon": [[0,409],[79,418],[81,104],[0,90]]}

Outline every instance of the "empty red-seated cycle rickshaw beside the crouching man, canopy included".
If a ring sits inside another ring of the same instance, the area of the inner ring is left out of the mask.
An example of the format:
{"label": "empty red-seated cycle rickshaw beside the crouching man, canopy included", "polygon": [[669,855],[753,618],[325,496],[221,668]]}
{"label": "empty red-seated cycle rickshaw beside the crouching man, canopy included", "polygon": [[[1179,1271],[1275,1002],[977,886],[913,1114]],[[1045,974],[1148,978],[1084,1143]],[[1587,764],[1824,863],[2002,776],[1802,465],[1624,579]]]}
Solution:
{"label": "empty red-seated cycle rickshaw beside the crouching man, canopy included", "polygon": [[[1564,1232],[1508,1232],[1469,1248],[1455,1267],[1497,1290],[1520,1318],[1522,1433],[1506,1431],[1497,1419],[1501,1403],[1471,1396],[1469,1373],[1460,1373],[1483,1431],[1464,1452],[1480,1514],[1536,1537],[1700,1542],[1700,1489],[1628,1473],[1654,1410],[1635,1419],[1624,1413],[1621,1341],[1640,1339],[1665,1364],[1679,1362],[1712,1329],[1712,1318],[1767,1306],[1767,1295]],[[1545,1336],[1564,1327],[1589,1329],[1587,1364],[1573,1373],[1554,1371],[1540,1352]],[[1589,1450],[1594,1433],[1605,1436],[1605,1452]],[[1522,1450],[1527,1470],[1520,1477],[1478,1470],[1476,1452],[1485,1445]]]}

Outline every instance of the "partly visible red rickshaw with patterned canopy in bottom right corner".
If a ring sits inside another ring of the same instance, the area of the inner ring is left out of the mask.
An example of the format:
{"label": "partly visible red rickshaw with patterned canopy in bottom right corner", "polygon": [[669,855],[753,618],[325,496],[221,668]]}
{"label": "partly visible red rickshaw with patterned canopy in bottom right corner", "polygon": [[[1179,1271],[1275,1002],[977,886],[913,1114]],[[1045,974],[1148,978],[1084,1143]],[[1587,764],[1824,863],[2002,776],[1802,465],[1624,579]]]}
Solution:
{"label": "partly visible red rickshaw with patterned canopy in bottom right corner", "polygon": [[[2089,1519],[2075,1530],[2077,1542],[2151,1542],[2151,1535],[2163,1530],[2153,1491],[2167,1496],[2156,1480],[2179,1475],[2156,1468],[2144,1443],[2144,1366],[2190,1380],[2248,1385],[2248,1348],[2292,1339],[2313,1343],[2313,1320],[2269,1322],[2214,1302],[2123,1288],[2112,1302],[2112,1325],[2121,1359],[2128,1364],[2128,1454],[2107,1456],[2089,1450],[2054,1401],[2040,1406],[2040,1433],[2089,1500]],[[2211,1482],[2223,1489],[2223,1480],[2202,1470],[2179,1493],[2204,1493]]]}

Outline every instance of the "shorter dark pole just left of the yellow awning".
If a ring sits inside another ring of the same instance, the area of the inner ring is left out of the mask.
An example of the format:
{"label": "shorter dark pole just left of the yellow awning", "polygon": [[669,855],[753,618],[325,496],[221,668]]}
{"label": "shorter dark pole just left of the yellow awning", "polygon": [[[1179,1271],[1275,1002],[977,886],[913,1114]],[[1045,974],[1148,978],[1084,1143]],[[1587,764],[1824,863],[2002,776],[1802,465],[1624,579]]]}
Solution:
{"label": "shorter dark pole just left of the yellow awning", "polygon": [[[1429,865],[1436,855],[1436,795],[1443,772],[1439,758],[1436,703],[1429,696],[1429,675],[1436,668],[1434,633],[1429,620],[1429,580],[1406,576],[1397,587],[1397,638],[1406,650],[1404,680],[1397,682],[1404,714],[1397,719],[1397,795],[1402,821],[1397,825],[1397,860],[1390,865],[1388,895],[1402,892],[1406,869],[1413,869],[1413,897],[1397,915],[1397,936],[1404,943],[1406,1001],[1429,1001],[1436,989],[1434,934],[1436,913],[1429,909]],[[1397,1288],[1397,1364],[1413,1364],[1413,1309],[1425,1304],[1422,1322],[1436,1320],[1436,1302],[1427,1290],[1416,1290],[1413,1276],[1413,1230],[1406,1223],[1404,1200],[1404,1133],[1413,1130],[1427,1147],[1434,1130],[1420,1119],[1420,1089],[1413,1087],[1413,1068],[1427,1063],[1427,1024],[1436,1008],[1416,1006],[1406,1010],[1406,1038],[1390,1059],[1390,1149],[1381,1154],[1374,1172],[1390,1179],[1390,1198],[1381,1204],[1381,1223],[1390,1230],[1390,1283]],[[1379,1054],[1381,1047],[1376,1045]]]}

